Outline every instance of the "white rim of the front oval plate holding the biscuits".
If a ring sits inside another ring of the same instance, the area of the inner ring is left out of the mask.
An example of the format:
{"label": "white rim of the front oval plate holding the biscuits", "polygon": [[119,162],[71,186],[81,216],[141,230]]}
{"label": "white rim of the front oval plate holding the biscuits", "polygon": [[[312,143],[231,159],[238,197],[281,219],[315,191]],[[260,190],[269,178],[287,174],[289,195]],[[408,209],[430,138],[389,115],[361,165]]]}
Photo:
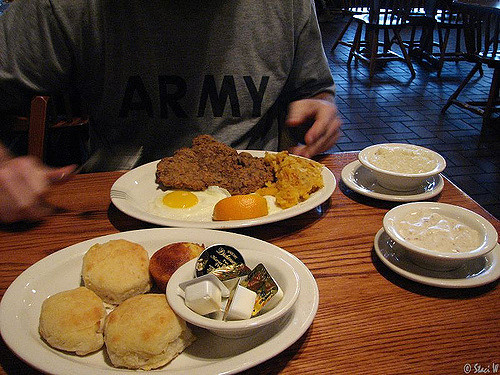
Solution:
{"label": "white rim of the front oval plate holding the biscuits", "polygon": [[[286,250],[269,242],[238,233],[215,231],[203,228],[195,228],[195,229],[148,228],[148,229],[118,232],[104,236],[94,237],[70,245],[59,251],[56,251],[55,253],[48,255],[47,257],[42,258],[38,262],[34,263],[32,266],[28,267],[25,271],[23,271],[7,288],[2,300],[0,301],[0,332],[7,347],[28,365],[45,373],[66,374],[68,373],[68,371],[71,371],[71,373],[83,375],[87,374],[89,372],[89,369],[91,369],[94,374],[111,375],[123,371],[124,369],[114,368],[111,366],[109,366],[109,368],[96,368],[92,366],[92,363],[83,364],[67,360],[64,357],[58,356],[57,353],[59,353],[59,351],[52,349],[48,346],[47,348],[40,347],[37,350],[37,352],[39,351],[44,352],[45,358],[39,358],[39,357],[37,358],[36,353],[35,354],[29,352],[27,353],[24,350],[19,350],[20,347],[23,347],[23,344],[22,342],[19,342],[19,335],[16,334],[16,332],[18,332],[16,328],[18,326],[22,326],[23,327],[22,334],[23,335],[27,334],[28,336],[30,335],[30,330],[33,328],[29,327],[29,324],[23,325],[22,318],[19,317],[19,314],[21,314],[24,311],[20,310],[20,308],[24,306],[21,295],[23,295],[22,293],[24,292],[25,287],[27,285],[26,282],[28,282],[29,285],[30,280],[40,279],[40,277],[43,276],[43,274],[34,275],[33,272],[38,271],[38,269],[46,268],[46,265],[53,265],[53,267],[49,267],[49,271],[46,271],[50,272],[50,268],[55,269],[55,267],[57,267],[60,264],[64,264],[64,262],[68,261],[71,262],[71,258],[73,257],[83,257],[83,254],[86,252],[86,250],[84,251],[84,248],[88,249],[92,244],[97,243],[99,241],[102,242],[124,237],[126,237],[126,239],[133,241],[133,237],[135,237],[136,235],[138,236],[143,235],[144,237],[148,237],[155,235],[155,232],[157,234],[158,233],[162,234],[161,232],[165,232],[163,233],[165,237],[162,237],[165,239],[165,242],[168,241],[169,236],[172,237],[176,235],[178,236],[184,235],[191,237],[193,234],[197,236],[213,235],[215,241],[219,241],[221,237],[228,239],[228,241],[230,240],[230,242],[248,241],[245,242],[248,243],[248,245],[246,246],[251,246],[252,244],[255,245],[260,244],[266,246],[267,249],[266,251],[272,251],[272,252],[276,251],[277,253],[286,252],[287,254],[290,255],[291,259],[294,259],[297,262],[296,264],[300,267],[297,269],[297,272],[300,277],[300,289],[309,290],[310,293],[312,294],[312,296],[303,294],[301,299],[301,295],[299,293],[297,302],[290,315],[290,319],[294,320],[294,324],[290,324],[281,328],[280,331],[278,331],[274,336],[271,336],[268,340],[266,340],[265,342],[261,343],[256,347],[253,347],[236,356],[223,358],[222,360],[210,362],[206,366],[200,367],[201,369],[206,369],[205,372],[207,374],[212,374],[212,373],[232,374],[235,372],[240,372],[248,368],[254,367],[270,358],[273,358],[274,356],[280,354],[282,351],[286,350],[289,346],[293,345],[293,343],[295,343],[311,326],[319,306],[319,289],[311,271],[294,254],[289,253]],[[182,232],[185,232],[185,234],[182,234]],[[210,243],[212,241],[211,239],[212,237],[207,237],[207,238],[208,240],[206,242]],[[160,239],[158,239],[158,241],[159,240]],[[143,240],[143,242],[146,242],[146,240]],[[71,287],[68,287],[68,289],[71,289]],[[21,291],[21,295],[19,291]],[[311,298],[312,298],[312,303],[309,306],[307,306],[309,304],[308,301]],[[304,306],[302,306],[299,310],[298,309],[299,305],[304,305]],[[297,320],[298,327],[297,324],[295,323],[296,319],[298,319]],[[13,321],[15,323],[13,323]],[[26,328],[24,328],[25,326]],[[281,337],[283,335],[286,335],[284,340]],[[52,351],[54,352],[54,354],[47,355],[51,354]],[[265,355],[263,356],[257,355],[258,353],[263,353],[263,352],[265,352]],[[54,358],[56,359],[58,358],[59,360],[53,361]],[[53,362],[56,362],[55,366]],[[164,368],[152,370],[151,373],[189,374],[192,373],[192,371],[193,368],[169,370],[168,366],[166,366]],[[150,373],[150,372],[142,371],[142,373]]]}

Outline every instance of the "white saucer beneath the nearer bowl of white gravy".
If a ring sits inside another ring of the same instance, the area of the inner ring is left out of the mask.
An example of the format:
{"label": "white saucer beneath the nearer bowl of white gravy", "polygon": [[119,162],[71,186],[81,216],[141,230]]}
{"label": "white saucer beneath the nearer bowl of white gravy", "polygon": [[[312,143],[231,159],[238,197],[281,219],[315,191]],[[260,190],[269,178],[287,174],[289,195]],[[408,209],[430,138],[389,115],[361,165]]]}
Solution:
{"label": "white saucer beneath the nearer bowl of white gravy", "polygon": [[387,259],[378,245],[379,239],[384,232],[385,230],[382,227],[375,235],[375,238],[373,240],[373,247],[375,253],[377,254],[378,258],[382,261],[382,263],[384,263],[388,268],[396,272],[398,275],[403,276],[409,280],[435,287],[459,289],[459,288],[474,288],[478,286],[483,286],[497,280],[500,277],[500,244],[497,244],[495,248],[491,250],[490,253],[485,254],[485,257],[491,256],[493,262],[491,267],[489,267],[489,269],[486,272],[483,272],[478,276],[470,277],[467,279],[440,279],[431,276],[417,275],[413,272],[405,270],[402,267],[399,267],[398,265]]}

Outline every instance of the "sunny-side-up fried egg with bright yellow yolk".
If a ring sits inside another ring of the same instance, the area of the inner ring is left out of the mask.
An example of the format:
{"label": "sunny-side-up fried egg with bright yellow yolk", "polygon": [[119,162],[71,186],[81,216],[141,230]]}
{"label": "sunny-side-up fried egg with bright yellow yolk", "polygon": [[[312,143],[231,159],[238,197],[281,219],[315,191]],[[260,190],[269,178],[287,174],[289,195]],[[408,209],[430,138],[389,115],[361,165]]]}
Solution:
{"label": "sunny-side-up fried egg with bright yellow yolk", "polygon": [[212,221],[215,204],[229,196],[218,186],[203,191],[167,190],[154,198],[151,213],[173,220]]}

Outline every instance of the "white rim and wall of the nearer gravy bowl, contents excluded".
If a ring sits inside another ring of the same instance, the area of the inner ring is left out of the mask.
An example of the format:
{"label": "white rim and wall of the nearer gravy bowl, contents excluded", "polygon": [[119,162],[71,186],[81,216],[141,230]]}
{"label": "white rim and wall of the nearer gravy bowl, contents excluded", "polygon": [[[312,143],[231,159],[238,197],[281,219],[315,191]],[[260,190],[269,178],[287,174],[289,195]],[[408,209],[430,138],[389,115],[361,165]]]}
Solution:
{"label": "white rim and wall of the nearer gravy bowl, contents excluded", "polygon": [[[452,253],[423,248],[405,240],[398,231],[398,223],[407,215],[420,210],[430,210],[476,230],[479,233],[478,247],[467,252]],[[389,237],[405,248],[408,258],[413,263],[431,270],[447,271],[458,268],[465,262],[482,257],[493,250],[498,241],[497,231],[484,217],[466,208],[446,203],[414,202],[402,204],[385,214],[383,225]]]}

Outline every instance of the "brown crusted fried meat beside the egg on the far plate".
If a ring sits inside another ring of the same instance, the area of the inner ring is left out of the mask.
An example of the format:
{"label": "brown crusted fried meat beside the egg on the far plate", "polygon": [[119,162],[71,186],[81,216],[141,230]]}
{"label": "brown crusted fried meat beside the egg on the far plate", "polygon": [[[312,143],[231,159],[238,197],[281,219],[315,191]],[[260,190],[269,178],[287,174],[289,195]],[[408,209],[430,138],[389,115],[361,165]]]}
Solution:
{"label": "brown crusted fried meat beside the egg on the far plate", "polygon": [[274,180],[264,158],[238,152],[210,135],[193,139],[191,148],[181,148],[163,158],[156,168],[156,182],[165,188],[205,190],[219,186],[235,194],[249,194]]}

